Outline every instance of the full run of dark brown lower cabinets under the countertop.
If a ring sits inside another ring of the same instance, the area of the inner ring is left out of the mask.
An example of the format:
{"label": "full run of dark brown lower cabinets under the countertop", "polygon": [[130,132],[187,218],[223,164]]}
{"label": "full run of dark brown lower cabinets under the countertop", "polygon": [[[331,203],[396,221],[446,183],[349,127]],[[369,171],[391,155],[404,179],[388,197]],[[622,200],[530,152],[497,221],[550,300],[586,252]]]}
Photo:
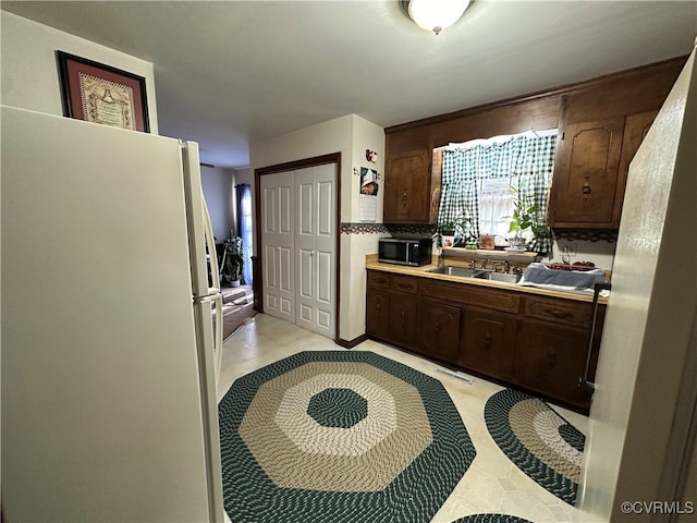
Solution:
{"label": "full run of dark brown lower cabinets under the countertop", "polygon": [[[366,332],[587,413],[589,302],[368,270]],[[598,358],[604,305],[591,351]]]}

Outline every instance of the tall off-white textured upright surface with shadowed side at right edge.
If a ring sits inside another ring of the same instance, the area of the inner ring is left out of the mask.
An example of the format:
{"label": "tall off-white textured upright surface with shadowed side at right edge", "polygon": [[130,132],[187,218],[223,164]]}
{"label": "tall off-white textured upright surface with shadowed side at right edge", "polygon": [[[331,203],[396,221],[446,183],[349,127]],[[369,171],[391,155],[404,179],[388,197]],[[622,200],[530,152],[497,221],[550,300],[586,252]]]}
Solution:
{"label": "tall off-white textured upright surface with shadowed side at right edge", "polygon": [[697,521],[697,69],[627,180],[575,521]]}

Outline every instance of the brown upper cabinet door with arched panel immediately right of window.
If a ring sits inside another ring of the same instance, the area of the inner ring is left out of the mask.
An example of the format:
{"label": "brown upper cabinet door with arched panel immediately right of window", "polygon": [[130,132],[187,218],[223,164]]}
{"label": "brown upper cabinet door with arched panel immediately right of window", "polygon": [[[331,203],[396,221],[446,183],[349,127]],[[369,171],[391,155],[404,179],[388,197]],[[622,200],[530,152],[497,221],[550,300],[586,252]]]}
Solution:
{"label": "brown upper cabinet door with arched panel immediately right of window", "polygon": [[566,125],[552,184],[553,227],[612,227],[624,118]]}

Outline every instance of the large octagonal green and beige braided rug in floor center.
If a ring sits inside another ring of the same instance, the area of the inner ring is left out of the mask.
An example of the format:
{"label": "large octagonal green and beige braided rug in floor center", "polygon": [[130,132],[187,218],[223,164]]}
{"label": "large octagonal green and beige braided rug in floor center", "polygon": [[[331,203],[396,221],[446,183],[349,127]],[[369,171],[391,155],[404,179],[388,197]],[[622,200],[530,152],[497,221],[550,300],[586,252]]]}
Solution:
{"label": "large octagonal green and beige braided rug in floor center", "polygon": [[235,523],[427,523],[476,454],[440,381],[371,352],[262,367],[219,416]]}

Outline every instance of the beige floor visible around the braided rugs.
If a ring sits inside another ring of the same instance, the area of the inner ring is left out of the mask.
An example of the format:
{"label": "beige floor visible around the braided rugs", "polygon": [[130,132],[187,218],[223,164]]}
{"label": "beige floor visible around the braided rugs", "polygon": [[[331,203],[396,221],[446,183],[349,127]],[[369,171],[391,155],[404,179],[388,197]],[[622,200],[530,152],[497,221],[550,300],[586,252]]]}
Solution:
{"label": "beige floor visible around the braided rugs", "polygon": [[[258,314],[223,344],[218,400],[232,382],[247,373],[299,351],[344,350],[333,341],[266,314]],[[375,341],[353,350],[372,351],[439,379],[457,406],[477,457],[431,523],[451,523],[477,513],[505,513],[535,523],[573,521],[575,508],[529,479],[501,452],[489,436],[484,405],[502,387],[473,377],[473,385],[438,372],[439,366]],[[586,434],[587,418],[557,408],[562,416]],[[329,523],[329,522],[328,522]]]}

